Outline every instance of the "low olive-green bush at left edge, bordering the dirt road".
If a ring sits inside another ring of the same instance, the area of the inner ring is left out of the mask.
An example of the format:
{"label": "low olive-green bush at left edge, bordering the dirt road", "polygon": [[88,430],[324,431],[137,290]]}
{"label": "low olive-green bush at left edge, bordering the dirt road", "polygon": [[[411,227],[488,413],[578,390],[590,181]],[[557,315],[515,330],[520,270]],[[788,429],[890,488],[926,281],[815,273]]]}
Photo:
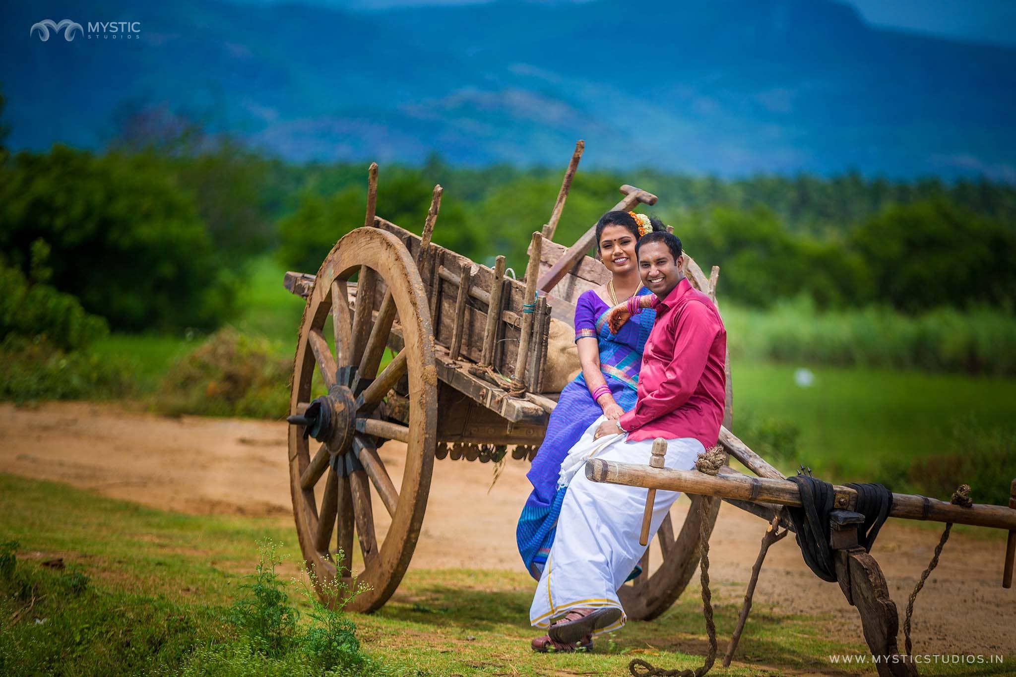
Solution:
{"label": "low olive-green bush at left edge, bordering the dirt road", "polygon": [[64,352],[43,336],[0,342],[0,400],[106,399],[131,388],[127,369],[87,352]]}

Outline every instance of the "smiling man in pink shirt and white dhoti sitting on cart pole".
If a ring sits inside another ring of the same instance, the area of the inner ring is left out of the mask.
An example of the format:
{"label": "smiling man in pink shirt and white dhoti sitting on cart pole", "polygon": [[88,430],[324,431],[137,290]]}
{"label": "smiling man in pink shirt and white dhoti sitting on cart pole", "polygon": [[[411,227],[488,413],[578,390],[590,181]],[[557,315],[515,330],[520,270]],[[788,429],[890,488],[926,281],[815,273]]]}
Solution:
{"label": "smiling man in pink shirt and white dhoti sitting on cart pole", "polygon": [[[624,625],[617,590],[645,551],[638,537],[647,490],[592,482],[580,467],[585,460],[648,464],[653,439],[663,437],[665,467],[688,470],[719,435],[726,387],[726,330],[719,314],[685,277],[677,236],[648,233],[635,253],[656,310],[642,354],[638,399],[619,420],[594,422],[562,464],[568,491],[529,611],[533,626],[549,627],[548,635],[532,640],[535,651],[589,648],[594,634]],[[676,491],[656,492],[650,534],[677,497]]]}

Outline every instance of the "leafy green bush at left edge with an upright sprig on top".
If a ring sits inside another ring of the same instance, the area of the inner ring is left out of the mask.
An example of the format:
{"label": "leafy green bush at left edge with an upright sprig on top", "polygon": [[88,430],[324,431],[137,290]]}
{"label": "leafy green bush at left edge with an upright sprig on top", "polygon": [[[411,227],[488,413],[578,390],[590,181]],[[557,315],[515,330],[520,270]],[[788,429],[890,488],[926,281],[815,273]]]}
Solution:
{"label": "leafy green bush at left edge with an upright sprig on top", "polygon": [[[42,241],[33,249],[48,250]],[[33,257],[35,283],[0,261],[0,337],[42,335],[59,348],[74,350],[109,334],[106,321],[85,313],[77,298],[40,283],[46,277],[38,263],[41,258],[45,257]]]}

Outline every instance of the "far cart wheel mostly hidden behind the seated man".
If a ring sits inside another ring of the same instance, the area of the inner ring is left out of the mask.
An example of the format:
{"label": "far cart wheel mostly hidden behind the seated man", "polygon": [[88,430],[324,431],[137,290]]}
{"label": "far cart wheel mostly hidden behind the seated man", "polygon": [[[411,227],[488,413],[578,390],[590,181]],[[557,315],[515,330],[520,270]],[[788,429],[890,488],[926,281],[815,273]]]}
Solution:
{"label": "far cart wheel mostly hidden behind the seated man", "polygon": [[[709,293],[715,300],[715,280],[706,278],[702,270],[695,261],[687,254],[684,255],[685,272],[692,286]],[[733,417],[734,390],[731,383],[731,354],[727,351],[726,363],[726,403],[723,411],[723,425],[731,427]],[[701,553],[699,552],[699,529],[701,518],[699,517],[699,504],[703,500],[708,500],[706,518],[706,533],[712,534],[712,528],[716,524],[716,516],[719,514],[720,500],[716,498],[707,499],[703,496],[690,496],[691,505],[681,527],[680,532],[675,531],[674,513],[663,518],[663,522],[656,532],[655,538],[646,548],[642,557],[643,573],[631,583],[627,583],[618,591],[621,604],[625,607],[625,613],[634,620],[652,620],[671,608],[671,605],[681,596],[681,593],[688,587],[695,569],[698,566]],[[677,505],[677,503],[675,503]],[[652,557],[662,557],[659,566],[649,574],[650,553]]]}

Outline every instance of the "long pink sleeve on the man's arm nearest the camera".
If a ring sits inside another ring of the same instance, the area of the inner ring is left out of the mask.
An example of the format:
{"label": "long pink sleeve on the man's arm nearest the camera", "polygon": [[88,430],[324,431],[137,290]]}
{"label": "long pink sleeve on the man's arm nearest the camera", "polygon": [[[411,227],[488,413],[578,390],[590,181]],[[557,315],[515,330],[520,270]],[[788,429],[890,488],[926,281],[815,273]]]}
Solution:
{"label": "long pink sleeve on the man's arm nearest the camera", "polygon": [[[669,327],[674,332],[674,354],[663,366],[662,374],[653,375],[655,388],[646,389],[644,397],[635,402],[635,408],[624,414],[621,427],[626,431],[638,429],[649,421],[669,414],[692,396],[698,387],[709,358],[719,326],[709,310],[700,301],[692,300]],[[648,385],[648,384],[646,384]]]}

